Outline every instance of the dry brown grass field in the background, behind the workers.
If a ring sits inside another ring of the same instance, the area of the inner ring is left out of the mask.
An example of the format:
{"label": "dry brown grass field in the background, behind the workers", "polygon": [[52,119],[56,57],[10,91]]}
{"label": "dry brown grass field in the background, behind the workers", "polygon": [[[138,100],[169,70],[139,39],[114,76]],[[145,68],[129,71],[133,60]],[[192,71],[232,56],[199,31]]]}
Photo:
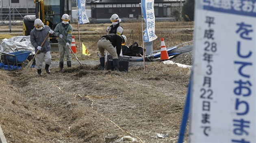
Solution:
{"label": "dry brown grass field in the background, behind the workers", "polygon": [[[77,52],[82,51],[82,43],[88,48],[89,52],[94,53],[98,52],[97,42],[101,36],[106,34],[106,27],[110,26],[111,23],[86,23],[79,25],[79,35],[80,35],[80,44],[78,36],[78,25],[72,24],[73,34],[75,37],[75,42],[77,46]],[[133,42],[137,42],[139,46],[143,46],[142,43],[142,30],[141,30],[141,21],[132,21],[132,22],[121,22],[121,25],[124,27],[123,35],[128,38],[126,45],[130,46]],[[0,29],[1,32],[9,32],[8,25],[2,25]],[[13,32],[22,32],[22,25],[12,26]],[[85,33],[84,31],[90,31]],[[193,22],[156,22],[155,25],[155,34],[158,36],[158,39],[153,41],[153,50],[161,49],[161,40],[164,38],[165,46],[171,47],[185,42],[193,40]],[[5,35],[8,36],[8,35]],[[13,35],[11,35],[13,36]],[[16,34],[17,36],[17,34]],[[9,36],[10,37],[10,36]],[[4,37],[0,36],[0,40]],[[191,43],[190,43],[191,44]],[[80,49],[79,49],[80,47]],[[97,55],[97,54],[95,54]]]}

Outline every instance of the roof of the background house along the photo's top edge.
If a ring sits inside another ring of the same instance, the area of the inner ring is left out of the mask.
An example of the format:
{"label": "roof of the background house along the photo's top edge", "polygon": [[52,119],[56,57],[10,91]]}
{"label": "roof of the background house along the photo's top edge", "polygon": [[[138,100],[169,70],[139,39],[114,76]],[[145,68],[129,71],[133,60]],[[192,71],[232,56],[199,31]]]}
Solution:
{"label": "roof of the background house along the photo's top edge", "polygon": [[[141,0],[91,0],[87,4],[139,4]],[[180,0],[154,0],[154,3],[178,3]],[[182,0],[185,2],[185,0]]]}

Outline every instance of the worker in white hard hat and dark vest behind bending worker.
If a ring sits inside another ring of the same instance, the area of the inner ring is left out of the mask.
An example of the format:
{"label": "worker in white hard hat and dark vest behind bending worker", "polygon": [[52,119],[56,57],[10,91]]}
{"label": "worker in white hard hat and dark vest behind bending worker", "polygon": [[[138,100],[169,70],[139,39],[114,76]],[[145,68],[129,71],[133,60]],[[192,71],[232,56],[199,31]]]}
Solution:
{"label": "worker in white hard hat and dark vest behind bending worker", "polygon": [[107,27],[106,31],[107,34],[123,34],[123,27],[120,25],[121,19],[119,19],[119,16],[117,14],[113,14],[110,18],[110,21],[112,22],[112,25],[110,27]]}

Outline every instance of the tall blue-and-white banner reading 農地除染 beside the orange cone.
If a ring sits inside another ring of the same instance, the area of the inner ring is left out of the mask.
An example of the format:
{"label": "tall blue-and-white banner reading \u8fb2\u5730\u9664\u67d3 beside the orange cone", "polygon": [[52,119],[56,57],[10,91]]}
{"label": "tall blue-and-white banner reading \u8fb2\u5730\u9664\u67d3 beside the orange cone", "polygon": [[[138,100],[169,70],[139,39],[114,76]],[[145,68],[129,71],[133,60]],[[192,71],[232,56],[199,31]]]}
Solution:
{"label": "tall blue-and-white banner reading \u8fb2\u5730\u9664\u67d3 beside the orange cone", "polygon": [[143,42],[150,42],[157,38],[155,34],[154,0],[141,0],[142,15],[145,21]]}

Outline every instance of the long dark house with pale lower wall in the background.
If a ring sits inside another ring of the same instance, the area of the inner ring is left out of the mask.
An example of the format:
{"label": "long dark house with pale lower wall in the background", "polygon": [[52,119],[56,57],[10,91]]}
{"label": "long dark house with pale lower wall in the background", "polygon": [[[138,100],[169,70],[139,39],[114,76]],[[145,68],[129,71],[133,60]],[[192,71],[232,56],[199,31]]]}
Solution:
{"label": "long dark house with pale lower wall in the background", "polygon": [[[180,4],[185,0],[154,0],[156,21],[175,21],[172,12],[180,10]],[[91,0],[92,21],[109,21],[111,15],[116,13],[122,20],[138,19],[141,17],[141,0]]]}

